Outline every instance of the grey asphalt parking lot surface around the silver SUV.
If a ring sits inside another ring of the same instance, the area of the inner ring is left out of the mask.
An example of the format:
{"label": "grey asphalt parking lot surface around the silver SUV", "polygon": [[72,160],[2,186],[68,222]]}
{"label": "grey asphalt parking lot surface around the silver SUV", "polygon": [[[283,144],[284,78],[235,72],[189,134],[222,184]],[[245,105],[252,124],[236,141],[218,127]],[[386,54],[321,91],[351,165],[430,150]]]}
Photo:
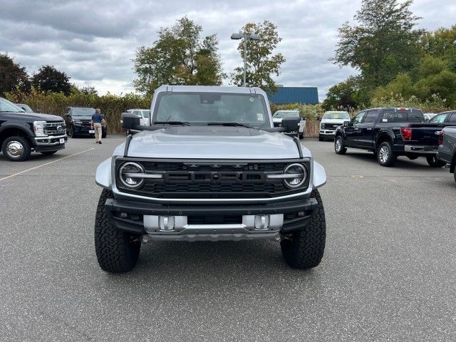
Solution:
{"label": "grey asphalt parking lot surface around the silver SUV", "polygon": [[123,140],[70,138],[28,162],[0,155],[1,341],[455,340],[447,169],[404,157],[380,167],[371,152],[305,140],[328,176],[316,269],[289,268],[272,241],[160,242],[110,275],[93,247],[94,175]]}

